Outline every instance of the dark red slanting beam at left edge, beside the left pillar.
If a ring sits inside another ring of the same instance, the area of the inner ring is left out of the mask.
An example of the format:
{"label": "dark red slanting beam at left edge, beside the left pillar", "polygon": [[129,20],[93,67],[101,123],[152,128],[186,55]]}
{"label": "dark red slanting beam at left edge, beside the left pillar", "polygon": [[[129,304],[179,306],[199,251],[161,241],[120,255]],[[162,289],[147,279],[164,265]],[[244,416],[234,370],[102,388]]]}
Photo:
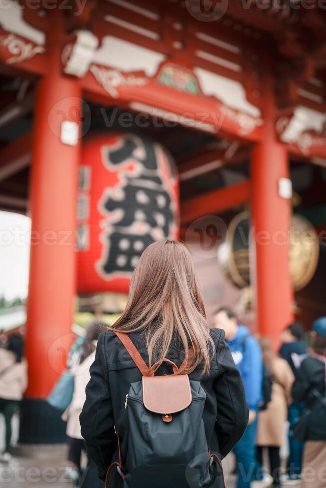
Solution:
{"label": "dark red slanting beam at left edge, beside the left pillar", "polygon": [[0,181],[26,168],[31,161],[32,132],[26,132],[0,150]]}

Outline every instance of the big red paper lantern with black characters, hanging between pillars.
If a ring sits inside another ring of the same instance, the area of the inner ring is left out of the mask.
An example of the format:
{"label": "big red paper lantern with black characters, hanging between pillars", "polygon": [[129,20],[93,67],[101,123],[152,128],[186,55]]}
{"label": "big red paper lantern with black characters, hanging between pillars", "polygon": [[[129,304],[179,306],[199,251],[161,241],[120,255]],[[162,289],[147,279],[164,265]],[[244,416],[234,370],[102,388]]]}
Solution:
{"label": "big red paper lantern with black characters, hanging between pillars", "polygon": [[81,157],[77,219],[78,291],[127,293],[145,247],[178,238],[173,159],[160,144],[134,134],[88,139]]}

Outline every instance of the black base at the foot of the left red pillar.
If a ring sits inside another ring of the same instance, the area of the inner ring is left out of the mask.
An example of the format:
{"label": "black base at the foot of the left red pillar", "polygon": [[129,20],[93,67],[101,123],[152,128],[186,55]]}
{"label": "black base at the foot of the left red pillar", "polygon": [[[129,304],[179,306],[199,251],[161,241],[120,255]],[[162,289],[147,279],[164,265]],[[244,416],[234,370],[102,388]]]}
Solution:
{"label": "black base at the foot of the left red pillar", "polygon": [[20,404],[19,442],[22,444],[61,444],[66,441],[62,412],[45,400],[24,398]]}

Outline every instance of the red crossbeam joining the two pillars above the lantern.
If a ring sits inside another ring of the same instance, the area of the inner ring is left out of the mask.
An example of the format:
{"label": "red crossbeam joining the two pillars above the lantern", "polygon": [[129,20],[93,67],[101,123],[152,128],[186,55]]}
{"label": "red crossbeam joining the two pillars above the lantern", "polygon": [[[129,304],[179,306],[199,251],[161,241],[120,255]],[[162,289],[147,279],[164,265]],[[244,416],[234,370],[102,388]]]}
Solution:
{"label": "red crossbeam joining the two pillars above the lantern", "polygon": [[[237,141],[257,142],[260,140],[262,120],[251,115],[243,115],[238,110],[225,106],[214,97],[200,97],[187,92],[179,92],[172,87],[162,85],[153,78],[139,76],[144,84],[122,83],[115,88],[115,97],[110,95],[107,76],[111,68],[91,65],[92,72],[80,80],[81,88],[90,100],[101,101],[106,105],[121,104],[136,112],[149,114],[151,117],[178,123],[195,130],[200,130],[219,137],[232,137]],[[115,70],[117,75],[119,71]],[[135,72],[136,73],[136,72]],[[140,72],[139,72],[140,73]],[[127,76],[121,74],[119,76]]]}

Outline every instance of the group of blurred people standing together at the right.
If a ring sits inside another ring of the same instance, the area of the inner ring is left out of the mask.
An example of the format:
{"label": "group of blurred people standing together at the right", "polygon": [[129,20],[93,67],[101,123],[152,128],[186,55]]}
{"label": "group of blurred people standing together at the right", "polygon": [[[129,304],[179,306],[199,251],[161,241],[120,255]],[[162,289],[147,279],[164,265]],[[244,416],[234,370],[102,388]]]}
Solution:
{"label": "group of blurred people standing together at the right", "polygon": [[[326,317],[313,324],[309,351],[301,324],[281,333],[276,354],[267,338],[254,337],[227,308],[214,326],[225,331],[240,370],[249,424],[234,449],[238,488],[326,487]],[[281,449],[288,446],[285,466]],[[265,458],[266,456],[266,458]],[[269,472],[263,468],[269,464]]]}

